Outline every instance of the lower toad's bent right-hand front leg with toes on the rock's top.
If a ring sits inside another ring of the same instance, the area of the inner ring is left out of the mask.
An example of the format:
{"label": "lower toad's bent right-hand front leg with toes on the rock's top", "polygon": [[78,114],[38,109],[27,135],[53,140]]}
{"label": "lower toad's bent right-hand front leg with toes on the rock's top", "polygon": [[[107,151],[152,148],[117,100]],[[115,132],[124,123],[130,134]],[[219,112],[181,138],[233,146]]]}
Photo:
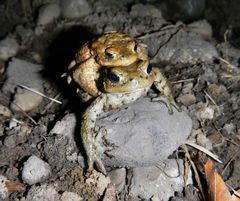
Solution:
{"label": "lower toad's bent right-hand front leg with toes on the rock's top", "polygon": [[154,85],[159,93],[151,97],[152,101],[164,102],[168,108],[169,114],[173,114],[172,106],[180,112],[181,109],[173,98],[171,87],[167,78],[157,67],[153,68],[153,73],[155,75]]}

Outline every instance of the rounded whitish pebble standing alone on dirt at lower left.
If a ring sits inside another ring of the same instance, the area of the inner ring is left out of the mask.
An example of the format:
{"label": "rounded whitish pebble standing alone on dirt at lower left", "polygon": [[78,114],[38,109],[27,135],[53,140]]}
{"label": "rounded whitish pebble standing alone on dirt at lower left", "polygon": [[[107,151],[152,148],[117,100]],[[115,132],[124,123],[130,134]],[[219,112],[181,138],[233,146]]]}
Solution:
{"label": "rounded whitish pebble standing alone on dirt at lower left", "polygon": [[24,162],[22,170],[22,180],[33,185],[47,179],[51,174],[51,168],[48,163],[44,162],[37,156],[31,156]]}

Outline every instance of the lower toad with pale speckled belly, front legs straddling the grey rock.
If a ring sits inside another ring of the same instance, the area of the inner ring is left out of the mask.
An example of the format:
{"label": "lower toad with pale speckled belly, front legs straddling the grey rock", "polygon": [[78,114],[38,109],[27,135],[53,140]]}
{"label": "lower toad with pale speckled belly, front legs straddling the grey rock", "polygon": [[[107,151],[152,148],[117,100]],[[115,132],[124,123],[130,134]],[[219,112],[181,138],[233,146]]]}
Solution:
{"label": "lower toad with pale speckled belly, front legs straddling the grey rock", "polygon": [[172,106],[180,111],[167,79],[159,68],[152,68],[148,61],[137,61],[127,68],[120,66],[101,69],[98,79],[100,93],[82,116],[81,137],[87,155],[88,171],[91,172],[95,164],[99,171],[106,174],[94,132],[98,116],[112,109],[126,107],[146,94],[152,85],[157,92],[151,97],[152,101],[164,101],[170,114],[173,113]]}

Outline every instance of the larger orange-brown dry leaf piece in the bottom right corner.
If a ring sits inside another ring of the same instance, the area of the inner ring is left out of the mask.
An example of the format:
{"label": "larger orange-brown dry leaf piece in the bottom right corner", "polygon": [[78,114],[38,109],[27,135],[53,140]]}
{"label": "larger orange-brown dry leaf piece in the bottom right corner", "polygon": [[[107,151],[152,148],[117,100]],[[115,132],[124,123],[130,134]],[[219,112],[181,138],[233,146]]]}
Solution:
{"label": "larger orange-brown dry leaf piece in the bottom right corner", "polygon": [[209,201],[233,201],[232,196],[222,177],[215,171],[214,164],[208,160],[204,165],[208,184]]}

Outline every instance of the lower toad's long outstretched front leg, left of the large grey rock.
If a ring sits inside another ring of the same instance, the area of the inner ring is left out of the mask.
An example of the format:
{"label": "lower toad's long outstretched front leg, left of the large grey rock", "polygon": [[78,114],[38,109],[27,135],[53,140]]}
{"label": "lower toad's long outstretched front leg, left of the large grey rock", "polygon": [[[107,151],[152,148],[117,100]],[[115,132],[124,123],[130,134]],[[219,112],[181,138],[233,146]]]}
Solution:
{"label": "lower toad's long outstretched front leg, left of the large grey rock", "polygon": [[91,172],[95,164],[103,174],[106,174],[106,170],[98,153],[94,128],[98,115],[103,112],[105,103],[106,96],[104,94],[96,98],[84,112],[81,125],[81,137],[87,155],[88,171]]}

